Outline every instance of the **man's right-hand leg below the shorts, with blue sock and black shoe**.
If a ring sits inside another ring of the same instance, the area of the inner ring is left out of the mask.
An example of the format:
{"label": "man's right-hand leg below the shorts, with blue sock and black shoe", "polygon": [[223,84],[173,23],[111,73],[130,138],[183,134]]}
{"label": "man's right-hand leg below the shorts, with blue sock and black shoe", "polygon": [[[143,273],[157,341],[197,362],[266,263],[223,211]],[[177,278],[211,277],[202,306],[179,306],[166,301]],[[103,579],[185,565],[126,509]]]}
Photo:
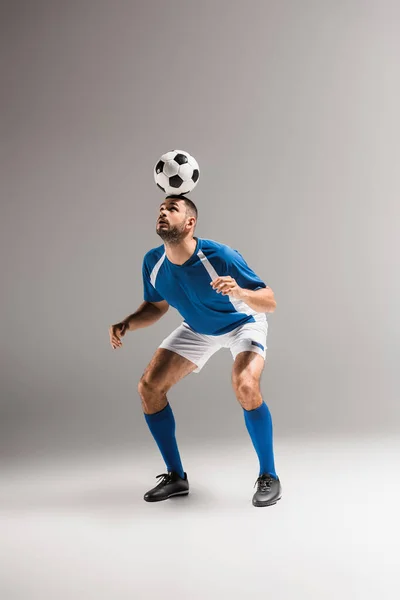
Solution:
{"label": "man's right-hand leg below the shorts, with blue sock and black shoe", "polygon": [[[264,364],[264,358],[260,354],[243,351],[236,356],[232,370],[233,389],[243,408],[247,431],[260,464],[257,482],[259,488],[260,486],[263,488],[263,494],[260,492],[257,498],[253,498],[255,506],[275,504],[280,498],[280,485],[275,484],[271,489],[271,479],[276,482],[279,482],[279,479],[274,464],[271,414],[260,391],[260,379]],[[257,490],[257,492],[259,491]]]}

